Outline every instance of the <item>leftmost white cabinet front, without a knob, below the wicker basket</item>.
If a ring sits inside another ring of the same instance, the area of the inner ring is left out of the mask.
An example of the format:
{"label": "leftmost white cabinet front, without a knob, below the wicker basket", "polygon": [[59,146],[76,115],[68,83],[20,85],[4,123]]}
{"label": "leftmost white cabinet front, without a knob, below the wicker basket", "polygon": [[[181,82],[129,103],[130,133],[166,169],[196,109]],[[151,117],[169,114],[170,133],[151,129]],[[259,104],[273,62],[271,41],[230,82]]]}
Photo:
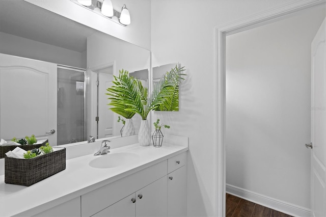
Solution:
{"label": "leftmost white cabinet front, without a knob, below the wicker basket", "polygon": [[80,197],[67,201],[48,210],[45,210],[44,212],[41,212],[34,216],[80,216]]}

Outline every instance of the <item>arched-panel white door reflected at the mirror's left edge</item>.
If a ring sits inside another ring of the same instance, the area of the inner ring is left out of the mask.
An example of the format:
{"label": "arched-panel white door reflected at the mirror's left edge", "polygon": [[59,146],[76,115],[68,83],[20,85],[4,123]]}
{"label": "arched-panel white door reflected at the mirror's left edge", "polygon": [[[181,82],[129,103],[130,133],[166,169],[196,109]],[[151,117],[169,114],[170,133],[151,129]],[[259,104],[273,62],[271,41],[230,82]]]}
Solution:
{"label": "arched-panel white door reflected at the mirror's left edge", "polygon": [[57,144],[57,64],[0,53],[0,138]]}

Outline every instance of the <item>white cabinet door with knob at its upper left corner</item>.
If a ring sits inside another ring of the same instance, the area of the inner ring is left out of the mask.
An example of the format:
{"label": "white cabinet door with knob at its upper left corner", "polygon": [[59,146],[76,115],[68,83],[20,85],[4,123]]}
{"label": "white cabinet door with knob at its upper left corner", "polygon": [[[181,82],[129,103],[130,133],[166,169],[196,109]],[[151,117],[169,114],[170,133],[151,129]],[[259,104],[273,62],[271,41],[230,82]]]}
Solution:
{"label": "white cabinet door with knob at its upper left corner", "polygon": [[162,177],[136,192],[136,216],[167,216],[168,181]]}

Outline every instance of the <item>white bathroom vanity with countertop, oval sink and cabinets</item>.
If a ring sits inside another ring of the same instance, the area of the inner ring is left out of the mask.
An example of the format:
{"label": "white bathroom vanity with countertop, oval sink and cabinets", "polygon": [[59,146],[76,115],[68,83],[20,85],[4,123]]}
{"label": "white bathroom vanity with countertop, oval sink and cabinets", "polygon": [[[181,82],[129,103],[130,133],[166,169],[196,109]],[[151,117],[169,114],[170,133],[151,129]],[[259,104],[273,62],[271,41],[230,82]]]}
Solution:
{"label": "white bathroom vanity with countertop, oval sink and cabinets", "polygon": [[166,135],[160,148],[116,138],[94,156],[100,144],[66,146],[66,170],[29,187],[0,176],[0,216],[186,215],[187,138]]}

